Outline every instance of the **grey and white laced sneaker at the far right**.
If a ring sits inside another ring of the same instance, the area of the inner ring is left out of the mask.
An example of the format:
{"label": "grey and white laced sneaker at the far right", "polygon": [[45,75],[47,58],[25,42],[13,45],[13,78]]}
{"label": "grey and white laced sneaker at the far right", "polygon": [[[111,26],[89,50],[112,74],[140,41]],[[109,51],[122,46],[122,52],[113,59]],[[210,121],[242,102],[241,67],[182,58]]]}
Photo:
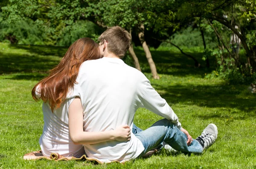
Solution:
{"label": "grey and white laced sneaker at the far right", "polygon": [[211,146],[217,139],[218,129],[215,124],[209,124],[202,134],[196,138],[199,143],[203,146],[203,150]]}

